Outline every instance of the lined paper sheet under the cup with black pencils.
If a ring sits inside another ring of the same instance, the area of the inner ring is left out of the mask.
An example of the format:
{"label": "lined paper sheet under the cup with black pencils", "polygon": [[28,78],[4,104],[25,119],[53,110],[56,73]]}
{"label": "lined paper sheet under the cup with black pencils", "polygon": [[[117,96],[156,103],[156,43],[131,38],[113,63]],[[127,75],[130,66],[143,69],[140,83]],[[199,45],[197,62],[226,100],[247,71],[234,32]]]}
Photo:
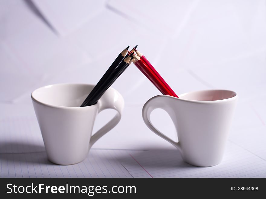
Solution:
{"label": "lined paper sheet under the cup with black pencils", "polygon": [[45,152],[2,153],[0,177],[132,177],[112,150],[92,150],[83,162],[56,165]]}

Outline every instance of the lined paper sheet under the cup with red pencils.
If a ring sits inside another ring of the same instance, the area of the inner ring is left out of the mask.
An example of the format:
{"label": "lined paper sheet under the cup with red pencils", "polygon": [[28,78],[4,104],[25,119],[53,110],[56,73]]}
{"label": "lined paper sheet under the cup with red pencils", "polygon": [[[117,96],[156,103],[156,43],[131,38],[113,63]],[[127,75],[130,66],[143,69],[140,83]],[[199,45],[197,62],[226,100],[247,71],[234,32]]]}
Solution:
{"label": "lined paper sheet under the cup with red pencils", "polygon": [[173,150],[129,152],[122,164],[133,177],[266,177],[266,161],[228,142],[222,163],[194,167]]}

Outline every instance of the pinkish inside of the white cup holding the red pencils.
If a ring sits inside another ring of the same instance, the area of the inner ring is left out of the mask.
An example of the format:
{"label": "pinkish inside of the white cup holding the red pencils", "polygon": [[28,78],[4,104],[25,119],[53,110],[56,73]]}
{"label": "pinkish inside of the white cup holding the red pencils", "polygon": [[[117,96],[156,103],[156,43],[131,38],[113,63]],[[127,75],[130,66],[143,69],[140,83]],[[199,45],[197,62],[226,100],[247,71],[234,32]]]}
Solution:
{"label": "pinkish inside of the white cup holding the red pencils", "polygon": [[233,98],[236,92],[228,90],[206,90],[194,91],[178,96],[181,99],[196,100],[196,101],[215,101]]}

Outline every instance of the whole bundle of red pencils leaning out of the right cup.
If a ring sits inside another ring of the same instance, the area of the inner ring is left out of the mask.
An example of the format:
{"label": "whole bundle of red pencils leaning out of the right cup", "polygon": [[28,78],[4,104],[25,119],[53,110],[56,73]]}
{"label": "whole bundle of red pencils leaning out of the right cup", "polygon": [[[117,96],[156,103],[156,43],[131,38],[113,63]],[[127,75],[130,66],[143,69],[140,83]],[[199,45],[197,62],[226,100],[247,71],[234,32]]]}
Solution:
{"label": "whole bundle of red pencils leaning out of the right cup", "polygon": [[[134,54],[133,63],[138,69],[161,91],[164,95],[170,95],[178,98],[177,94],[170,88],[170,86],[164,81],[161,75],[155,70],[148,59],[134,48],[136,55]],[[132,51],[128,54],[134,53]]]}

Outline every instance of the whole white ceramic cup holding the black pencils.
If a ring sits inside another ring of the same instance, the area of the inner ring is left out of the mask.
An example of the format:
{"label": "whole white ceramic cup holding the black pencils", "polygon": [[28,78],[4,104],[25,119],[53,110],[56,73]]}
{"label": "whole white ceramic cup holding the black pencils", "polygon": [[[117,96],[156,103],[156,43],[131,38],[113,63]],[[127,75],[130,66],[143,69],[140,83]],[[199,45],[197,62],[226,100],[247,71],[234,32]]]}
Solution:
{"label": "whole white ceramic cup holding the black pencils", "polygon": [[[108,88],[96,104],[79,107],[93,87],[87,84],[56,84],[31,93],[51,162],[67,165],[83,161],[91,146],[120,121],[124,99],[113,88]],[[92,135],[96,115],[108,108],[115,109],[117,114]]]}

